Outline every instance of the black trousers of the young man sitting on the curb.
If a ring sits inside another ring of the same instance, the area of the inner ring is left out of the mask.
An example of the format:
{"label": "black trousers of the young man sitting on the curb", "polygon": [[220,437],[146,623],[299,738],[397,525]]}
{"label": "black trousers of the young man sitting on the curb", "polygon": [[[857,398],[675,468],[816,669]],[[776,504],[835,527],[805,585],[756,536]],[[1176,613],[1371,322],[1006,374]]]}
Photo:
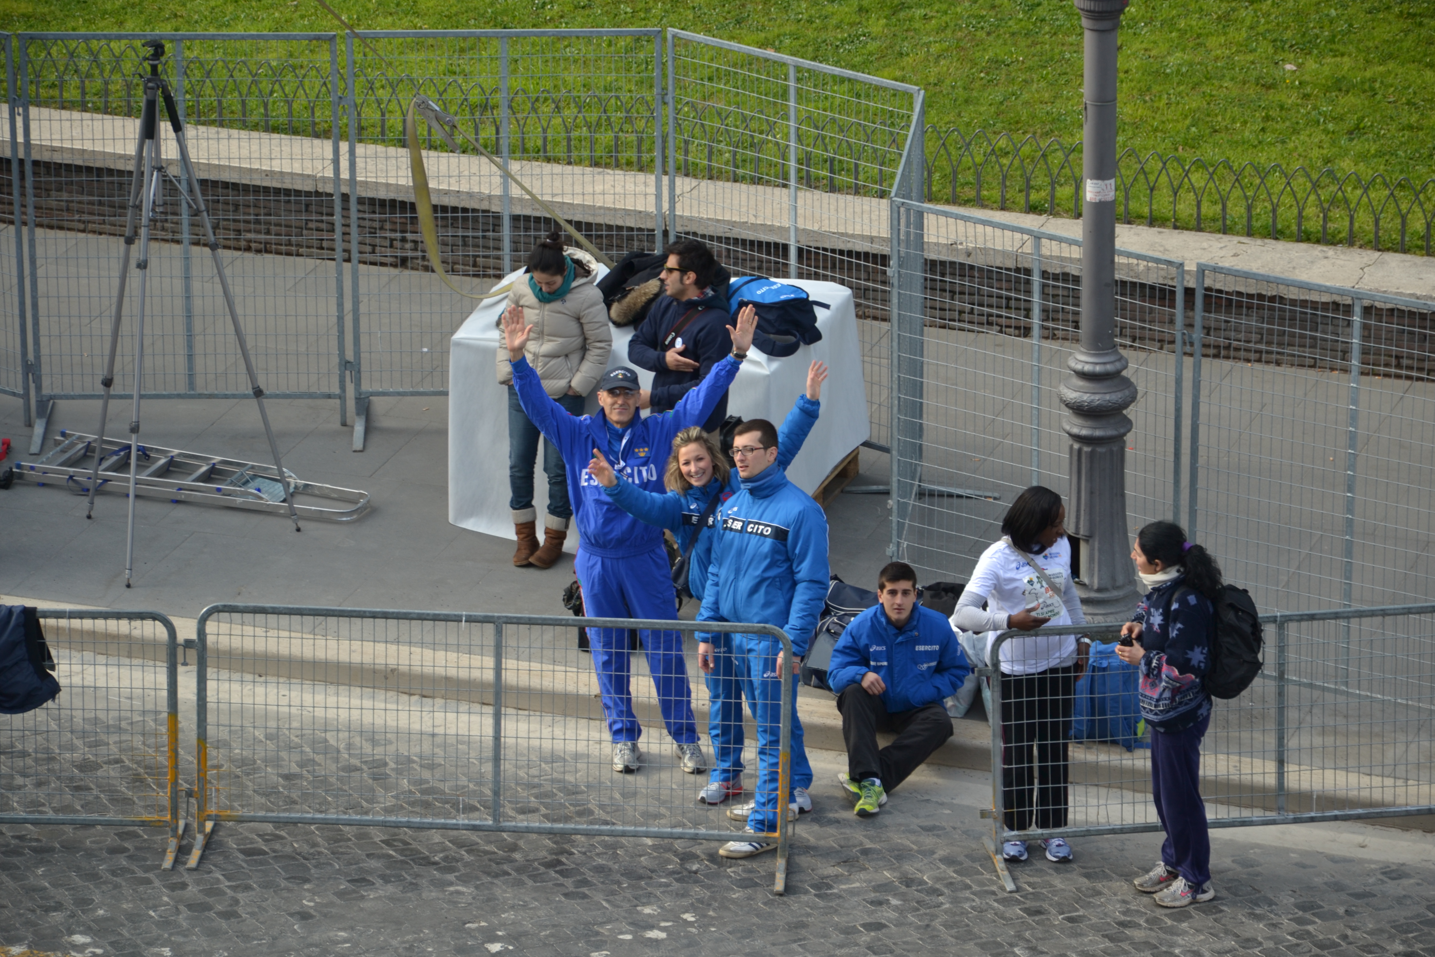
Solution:
{"label": "black trousers of the young man sitting on the curb", "polygon": [[[907,781],[951,737],[951,717],[941,704],[888,712],[881,694],[868,694],[861,684],[842,689],[837,710],[842,712],[847,776],[852,781],[880,778],[884,791]],[[878,750],[877,732],[895,732],[897,740]]]}

